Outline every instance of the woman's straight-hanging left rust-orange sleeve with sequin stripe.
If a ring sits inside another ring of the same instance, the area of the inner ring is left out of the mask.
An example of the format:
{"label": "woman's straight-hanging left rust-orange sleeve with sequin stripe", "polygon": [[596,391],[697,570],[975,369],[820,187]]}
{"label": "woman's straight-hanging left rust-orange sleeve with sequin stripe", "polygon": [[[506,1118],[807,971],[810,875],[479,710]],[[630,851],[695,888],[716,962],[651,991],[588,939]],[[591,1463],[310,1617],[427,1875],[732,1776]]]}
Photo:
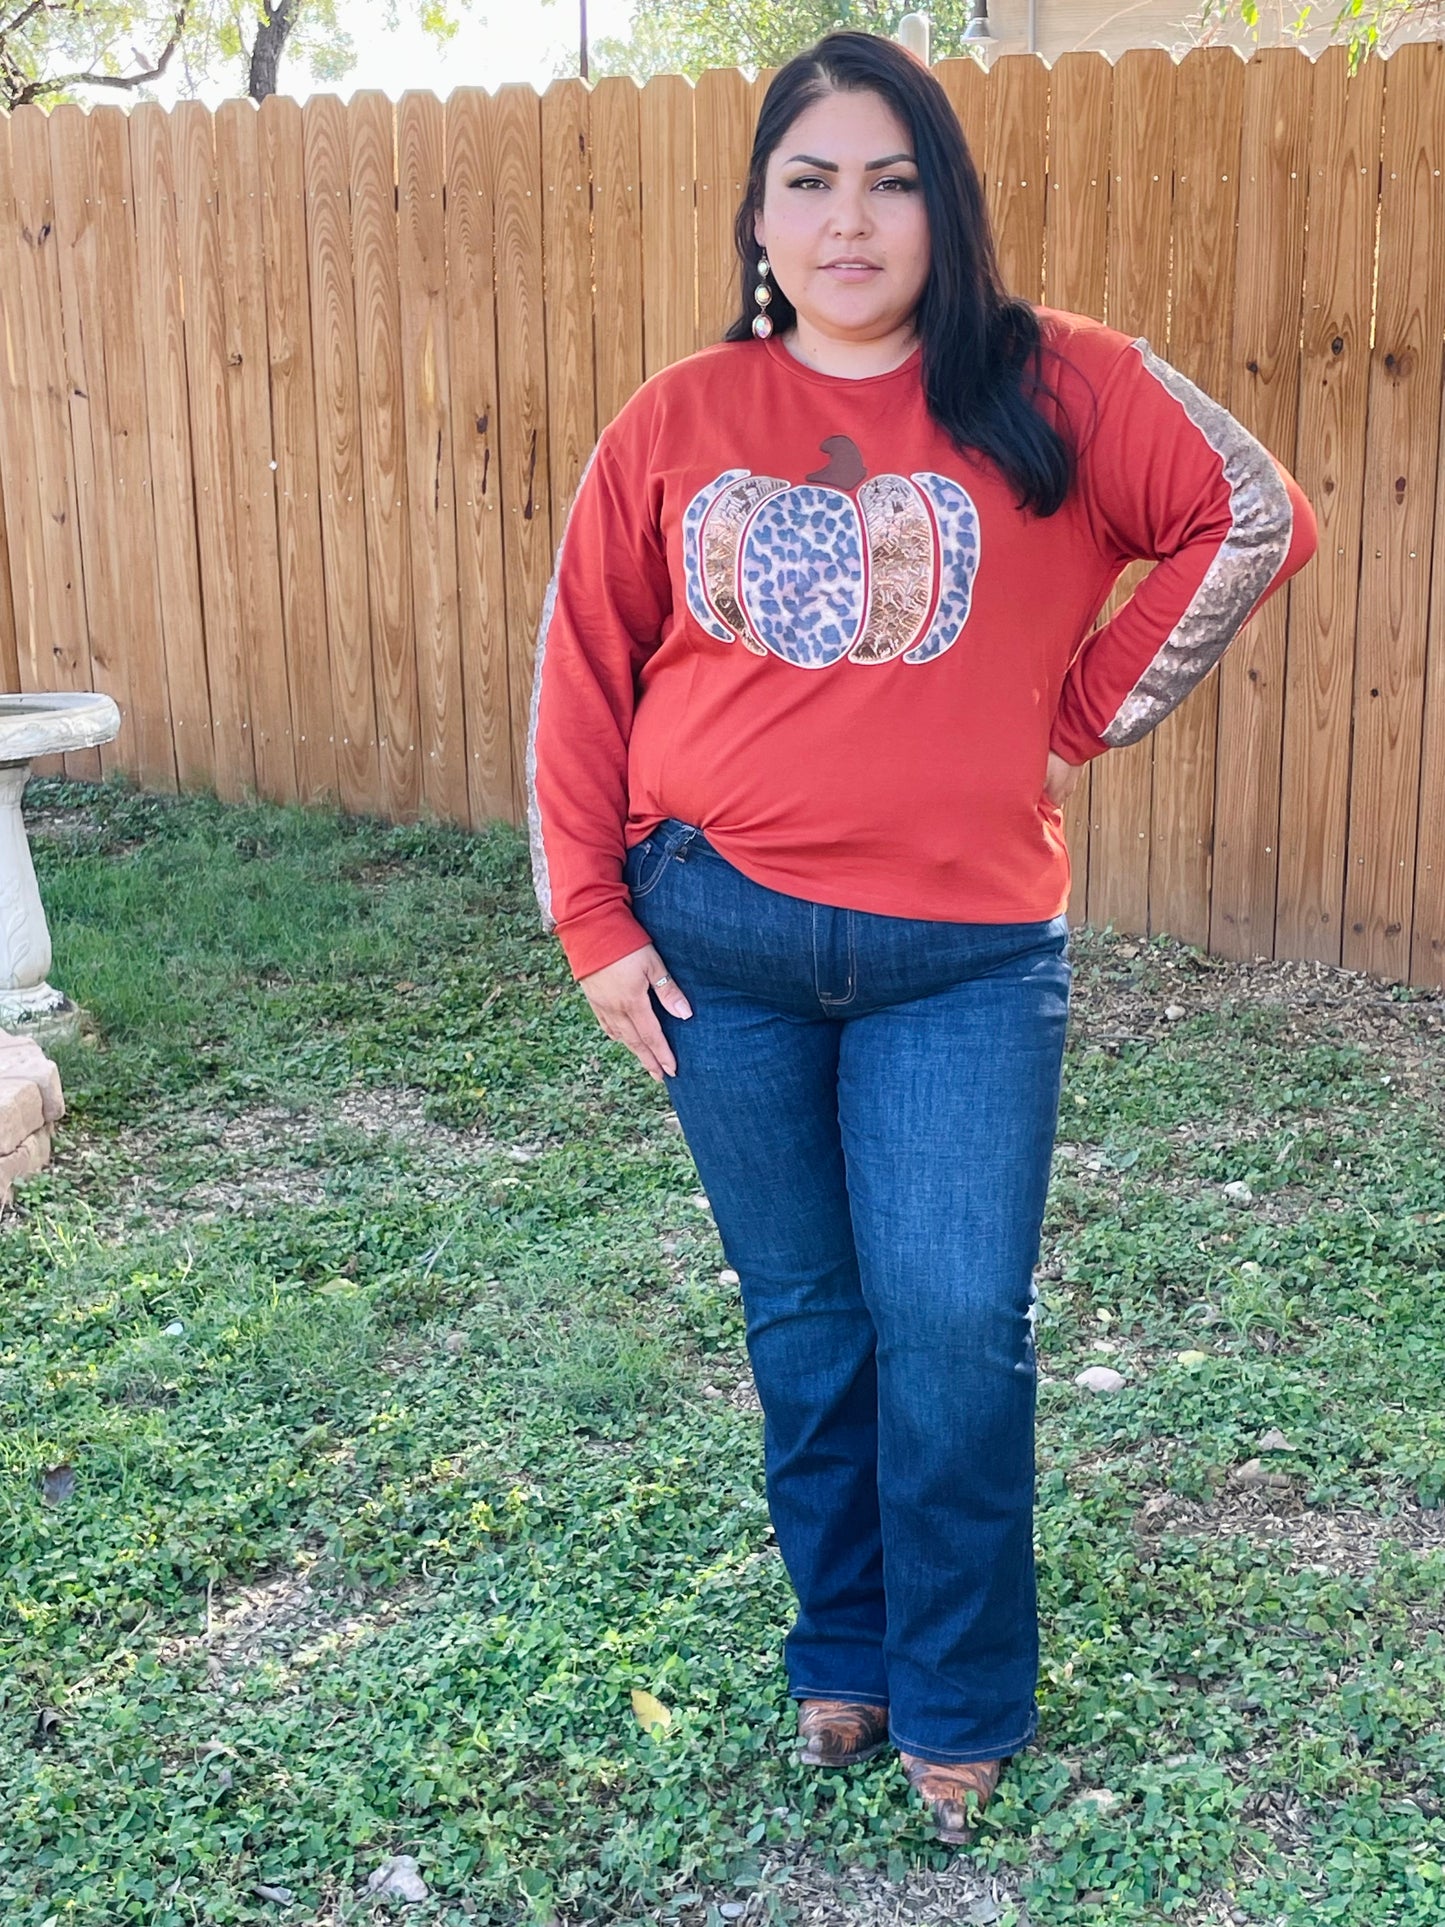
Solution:
{"label": "woman's straight-hanging left rust-orange sleeve with sequin stripe", "polygon": [[[541,609],[528,725],[532,879],[576,977],[649,942],[622,883],[638,673],[672,595],[622,418],[578,482]],[[617,432],[617,434],[615,434]]]}

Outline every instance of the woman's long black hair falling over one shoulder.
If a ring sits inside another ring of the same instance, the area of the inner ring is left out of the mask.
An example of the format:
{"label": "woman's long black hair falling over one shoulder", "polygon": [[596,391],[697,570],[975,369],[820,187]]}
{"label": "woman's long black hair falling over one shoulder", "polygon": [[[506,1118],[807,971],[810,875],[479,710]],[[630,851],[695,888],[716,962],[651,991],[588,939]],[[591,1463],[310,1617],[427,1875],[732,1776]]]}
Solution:
{"label": "woman's long black hair falling over one shoulder", "polygon": [[[948,94],[894,40],[838,29],[775,73],[757,116],[734,227],[742,310],[724,341],[749,341],[753,333],[759,256],[753,216],[763,206],[769,158],[798,116],[828,92],[880,94],[913,137],[933,251],[915,314],[929,414],[959,451],[975,449],[998,464],[1021,509],[1054,515],[1069,493],[1075,457],[1033,405],[1035,395],[1058,401],[1042,376],[1038,316],[1027,301],[1004,291],[979,170]],[[798,318],[776,283],[769,316],[778,331]]]}

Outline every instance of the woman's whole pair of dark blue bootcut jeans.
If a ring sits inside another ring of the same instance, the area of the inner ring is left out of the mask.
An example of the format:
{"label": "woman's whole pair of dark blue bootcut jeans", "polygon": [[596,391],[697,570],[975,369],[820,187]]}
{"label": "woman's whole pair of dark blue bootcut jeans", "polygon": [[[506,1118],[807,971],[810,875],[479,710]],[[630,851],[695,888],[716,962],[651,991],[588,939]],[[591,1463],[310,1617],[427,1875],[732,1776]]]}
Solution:
{"label": "woman's whole pair of dark blue bootcut jeans", "polygon": [[832,910],[676,819],[624,875],[694,1008],[661,1012],[667,1083],[742,1280],[788,1690],[886,1703],[923,1759],[1006,1757],[1038,1719],[1033,1268],[1067,917]]}

